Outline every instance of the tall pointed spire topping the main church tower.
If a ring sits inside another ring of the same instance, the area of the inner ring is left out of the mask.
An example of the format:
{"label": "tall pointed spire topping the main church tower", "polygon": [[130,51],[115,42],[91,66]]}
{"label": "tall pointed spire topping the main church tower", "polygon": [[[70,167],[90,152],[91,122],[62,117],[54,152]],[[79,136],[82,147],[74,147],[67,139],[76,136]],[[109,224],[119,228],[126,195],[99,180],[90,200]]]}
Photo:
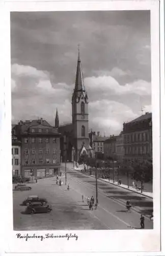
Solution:
{"label": "tall pointed spire topping the main church tower", "polygon": [[76,72],[76,79],[75,79],[74,95],[76,97],[79,97],[81,95],[81,93],[83,93],[84,96],[86,95],[84,79],[83,79],[83,75],[82,75],[79,46],[78,46],[78,60],[77,60],[77,72]]}

